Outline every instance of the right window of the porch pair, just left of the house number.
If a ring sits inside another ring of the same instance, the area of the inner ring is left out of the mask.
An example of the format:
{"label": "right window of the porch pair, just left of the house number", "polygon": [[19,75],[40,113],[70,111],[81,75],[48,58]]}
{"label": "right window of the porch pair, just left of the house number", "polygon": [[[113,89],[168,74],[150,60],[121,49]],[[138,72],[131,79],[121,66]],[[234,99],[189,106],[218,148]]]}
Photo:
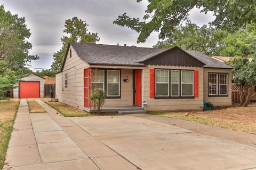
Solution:
{"label": "right window of the porch pair, just left of the house number", "polygon": [[120,95],[120,71],[107,70],[107,96]]}

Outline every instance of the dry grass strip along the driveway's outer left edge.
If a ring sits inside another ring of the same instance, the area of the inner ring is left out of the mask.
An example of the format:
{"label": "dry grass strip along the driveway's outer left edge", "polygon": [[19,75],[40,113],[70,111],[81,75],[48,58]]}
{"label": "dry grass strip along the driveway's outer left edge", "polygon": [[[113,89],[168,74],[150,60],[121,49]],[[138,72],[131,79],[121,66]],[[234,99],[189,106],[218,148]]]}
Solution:
{"label": "dry grass strip along the driveway's outer left edge", "polygon": [[13,130],[13,123],[19,108],[19,99],[0,101],[0,169],[4,165],[6,150]]}

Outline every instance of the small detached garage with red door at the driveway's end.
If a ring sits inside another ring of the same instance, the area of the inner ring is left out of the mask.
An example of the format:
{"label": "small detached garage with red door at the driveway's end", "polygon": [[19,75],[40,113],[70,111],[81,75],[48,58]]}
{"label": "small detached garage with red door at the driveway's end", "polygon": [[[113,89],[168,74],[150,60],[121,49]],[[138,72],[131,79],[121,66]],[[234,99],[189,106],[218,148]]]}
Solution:
{"label": "small detached garage with red door at the driveway's end", "polygon": [[13,89],[14,98],[44,98],[45,78],[30,74],[23,77],[19,87]]}

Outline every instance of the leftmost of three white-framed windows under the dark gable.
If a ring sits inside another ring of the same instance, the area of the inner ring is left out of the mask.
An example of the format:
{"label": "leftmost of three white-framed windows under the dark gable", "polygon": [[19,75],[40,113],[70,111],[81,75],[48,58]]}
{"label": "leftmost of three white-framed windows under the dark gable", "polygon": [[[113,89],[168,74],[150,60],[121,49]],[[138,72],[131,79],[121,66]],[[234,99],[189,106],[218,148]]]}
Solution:
{"label": "leftmost of three white-framed windows under the dark gable", "polygon": [[156,70],[156,96],[169,96],[169,70]]}

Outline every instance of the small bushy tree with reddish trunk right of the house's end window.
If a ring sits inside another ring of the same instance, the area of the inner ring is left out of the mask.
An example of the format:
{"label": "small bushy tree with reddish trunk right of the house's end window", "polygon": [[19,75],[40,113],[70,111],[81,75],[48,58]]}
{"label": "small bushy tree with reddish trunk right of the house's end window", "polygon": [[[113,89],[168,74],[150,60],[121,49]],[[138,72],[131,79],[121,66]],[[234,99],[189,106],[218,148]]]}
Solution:
{"label": "small bushy tree with reddish trunk right of the house's end window", "polygon": [[[249,62],[247,58],[236,56],[227,64],[233,67],[232,76],[239,88],[240,104],[247,106],[250,97],[249,88],[256,84],[256,60]],[[244,99],[246,99],[245,102]]]}

